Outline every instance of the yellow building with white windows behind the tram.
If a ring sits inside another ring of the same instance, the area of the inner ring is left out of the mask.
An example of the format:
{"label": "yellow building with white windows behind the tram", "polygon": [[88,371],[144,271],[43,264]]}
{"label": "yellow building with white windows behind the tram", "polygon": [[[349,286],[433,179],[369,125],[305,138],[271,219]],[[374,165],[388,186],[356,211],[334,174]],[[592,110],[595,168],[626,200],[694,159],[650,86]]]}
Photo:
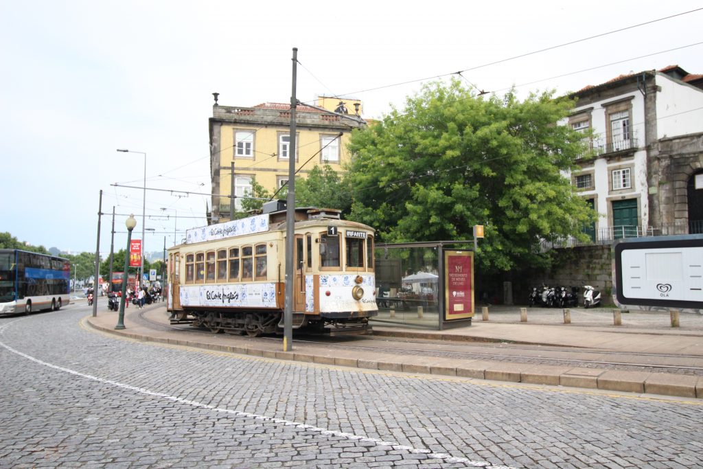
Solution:
{"label": "yellow building with white windows behind the tram", "polygon": [[[297,105],[297,174],[304,177],[316,165],[325,164],[342,171],[350,158],[347,143],[352,130],[366,126],[360,115],[361,102],[356,100],[321,96],[318,106]],[[209,134],[213,222],[230,219],[232,189],[239,211],[237,198],[251,194],[253,181],[271,193],[288,181],[290,104],[224,106],[217,103],[215,94]]]}

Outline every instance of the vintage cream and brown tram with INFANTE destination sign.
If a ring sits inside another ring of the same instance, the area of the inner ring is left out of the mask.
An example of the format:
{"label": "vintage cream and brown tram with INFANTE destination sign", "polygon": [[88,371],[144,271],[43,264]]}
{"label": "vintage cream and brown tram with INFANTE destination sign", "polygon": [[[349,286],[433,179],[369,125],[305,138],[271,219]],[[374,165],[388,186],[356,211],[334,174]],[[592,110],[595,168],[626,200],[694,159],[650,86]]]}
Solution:
{"label": "vintage cream and brown tram with INFANTE destination sign", "polygon": [[[284,204],[266,204],[262,214],[188,230],[169,249],[172,319],[212,332],[283,333],[285,217]],[[297,208],[294,231],[293,328],[368,331],[378,314],[373,229],[338,210]]]}

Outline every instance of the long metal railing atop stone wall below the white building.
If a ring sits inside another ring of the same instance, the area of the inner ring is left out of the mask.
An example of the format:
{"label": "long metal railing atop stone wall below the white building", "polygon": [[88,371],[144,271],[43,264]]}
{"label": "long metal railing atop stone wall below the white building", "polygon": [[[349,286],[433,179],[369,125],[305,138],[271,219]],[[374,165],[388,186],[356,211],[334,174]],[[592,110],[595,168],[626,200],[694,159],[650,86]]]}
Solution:
{"label": "long metal railing atop stone wall below the white building", "polygon": [[642,238],[645,236],[674,236],[688,234],[703,234],[703,220],[679,221],[661,226],[621,225],[598,229],[587,233],[591,240],[581,241],[569,236],[553,241],[542,240],[539,252],[547,252],[555,248],[574,248],[574,246],[610,244],[623,238]]}

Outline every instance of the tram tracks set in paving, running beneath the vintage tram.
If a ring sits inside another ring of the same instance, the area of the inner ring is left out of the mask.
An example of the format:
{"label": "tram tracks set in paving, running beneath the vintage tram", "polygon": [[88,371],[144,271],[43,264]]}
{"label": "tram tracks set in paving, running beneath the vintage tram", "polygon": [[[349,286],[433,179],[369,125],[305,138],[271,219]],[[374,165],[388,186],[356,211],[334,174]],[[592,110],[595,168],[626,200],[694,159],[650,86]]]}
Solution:
{"label": "tram tracks set in paving, running beneath the vintage tram", "polygon": [[[154,321],[146,317],[148,311],[139,311],[141,323],[157,330],[174,330],[181,333],[200,333],[212,335],[206,329],[173,326]],[[234,336],[236,340],[282,341],[282,338],[262,336],[245,338]],[[380,343],[379,343],[380,342]],[[294,344],[325,347],[328,349],[366,350],[379,354],[405,354],[413,356],[432,356],[450,359],[484,359],[522,364],[549,364],[582,368],[606,368],[621,371],[649,371],[652,373],[671,373],[679,375],[703,376],[703,366],[687,362],[698,360],[703,364],[703,357],[690,354],[657,354],[647,352],[617,352],[600,349],[579,349],[576,347],[553,347],[541,345],[498,344],[491,342],[451,343],[440,340],[408,340],[398,338],[374,338],[373,336],[354,336],[348,339],[321,339],[302,336],[293,340]]]}

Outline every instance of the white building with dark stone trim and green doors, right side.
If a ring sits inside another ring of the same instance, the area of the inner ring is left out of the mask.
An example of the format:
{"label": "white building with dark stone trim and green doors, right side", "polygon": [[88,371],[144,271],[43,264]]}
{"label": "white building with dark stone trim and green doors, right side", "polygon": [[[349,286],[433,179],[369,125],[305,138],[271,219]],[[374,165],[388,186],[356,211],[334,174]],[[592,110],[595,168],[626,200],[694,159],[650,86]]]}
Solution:
{"label": "white building with dark stone trim and green doors, right side", "polygon": [[571,96],[569,125],[593,132],[571,174],[599,214],[593,240],[703,233],[703,75],[672,66]]}

